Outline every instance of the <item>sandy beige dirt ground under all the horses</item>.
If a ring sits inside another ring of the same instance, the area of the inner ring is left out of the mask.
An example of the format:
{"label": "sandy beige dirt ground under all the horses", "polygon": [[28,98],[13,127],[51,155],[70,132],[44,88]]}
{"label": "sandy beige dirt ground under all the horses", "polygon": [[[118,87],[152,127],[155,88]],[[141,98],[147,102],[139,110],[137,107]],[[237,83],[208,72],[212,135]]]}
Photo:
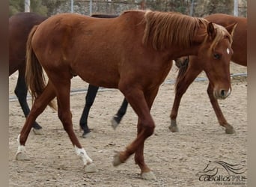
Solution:
{"label": "sandy beige dirt ground under all the horses", "polygon": [[[246,73],[246,67],[231,64],[231,73]],[[141,180],[140,169],[133,156],[123,165],[114,167],[112,159],[115,150],[124,148],[136,136],[137,117],[128,108],[127,114],[116,130],[110,120],[116,113],[123,96],[120,91],[107,89],[97,94],[91,108],[88,124],[91,137],[82,138],[79,132],[79,118],[85,104],[88,84],[79,77],[72,80],[72,90],[80,92],[71,95],[73,128],[88,155],[97,165],[98,172],[85,174],[82,161],[76,156],[70,139],[64,131],[57,112],[46,108],[37,118],[43,126],[43,135],[28,136],[26,150],[30,161],[16,161],[16,138],[25,122],[19,102],[15,99],[17,73],[9,78],[9,183],[10,186],[246,186],[247,165],[247,80],[246,77],[232,79],[232,93],[219,105],[236,134],[227,135],[219,126],[207,96],[207,81],[193,82],[183,96],[177,117],[180,132],[170,132],[169,114],[174,101],[174,80],[177,74],[174,66],[156,96],[151,114],[156,123],[155,132],[147,139],[144,158],[152,169],[156,180]],[[201,73],[201,77],[205,74]],[[31,104],[31,100],[29,100]],[[209,161],[223,161],[240,174],[225,170],[220,165],[213,180],[204,180],[204,168]]]}

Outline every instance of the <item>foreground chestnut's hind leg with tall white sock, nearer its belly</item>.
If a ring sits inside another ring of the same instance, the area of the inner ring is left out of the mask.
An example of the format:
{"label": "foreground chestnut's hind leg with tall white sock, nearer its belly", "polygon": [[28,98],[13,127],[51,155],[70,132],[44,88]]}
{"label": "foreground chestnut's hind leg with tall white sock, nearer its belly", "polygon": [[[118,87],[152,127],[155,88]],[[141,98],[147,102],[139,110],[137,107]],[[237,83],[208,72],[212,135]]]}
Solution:
{"label": "foreground chestnut's hind leg with tall white sock, nearer its belly", "polygon": [[[55,85],[55,91],[58,101],[58,117],[64,126],[64,130],[70,138],[70,141],[75,148],[76,154],[80,156],[84,163],[84,169],[86,173],[96,172],[97,169],[92,161],[92,159],[87,155],[85,149],[82,148],[73,131],[72,114],[70,111],[70,79],[65,79],[65,75],[61,76],[61,80],[53,83]],[[50,79],[50,76],[49,76]],[[54,79],[51,79],[52,81]]]}

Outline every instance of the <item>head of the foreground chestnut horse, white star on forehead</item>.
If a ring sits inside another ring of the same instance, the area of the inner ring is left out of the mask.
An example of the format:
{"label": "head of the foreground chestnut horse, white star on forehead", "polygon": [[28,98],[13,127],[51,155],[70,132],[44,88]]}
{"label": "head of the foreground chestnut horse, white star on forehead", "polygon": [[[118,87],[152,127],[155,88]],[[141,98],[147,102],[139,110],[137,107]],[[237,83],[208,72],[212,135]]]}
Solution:
{"label": "head of the foreground chestnut horse, white star on forehead", "polygon": [[225,99],[231,93],[229,68],[233,55],[231,43],[235,26],[224,28],[208,22],[207,37],[204,38],[196,57],[201,62],[201,68],[207,74],[210,84],[213,85],[213,95],[216,99]]}

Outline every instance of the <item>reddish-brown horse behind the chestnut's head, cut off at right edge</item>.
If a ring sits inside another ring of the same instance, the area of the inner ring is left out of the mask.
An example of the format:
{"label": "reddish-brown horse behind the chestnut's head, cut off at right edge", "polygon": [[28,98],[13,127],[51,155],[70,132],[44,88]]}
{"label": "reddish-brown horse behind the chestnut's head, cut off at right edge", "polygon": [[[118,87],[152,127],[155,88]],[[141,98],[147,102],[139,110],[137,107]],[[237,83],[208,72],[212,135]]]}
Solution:
{"label": "reddish-brown horse behind the chestnut's head, cut off at right edge", "polygon": [[[215,22],[216,24],[227,26],[231,23],[237,22],[237,28],[234,31],[232,49],[234,50],[234,55],[231,57],[231,61],[242,66],[247,66],[247,18],[231,16],[224,13],[216,13],[210,16],[206,16],[210,22]],[[189,62],[189,63],[188,63]],[[180,105],[180,100],[183,94],[186,92],[189,85],[195,80],[195,78],[203,71],[202,64],[204,64],[204,59],[198,58],[196,56],[189,56],[189,58],[184,57],[177,59],[177,67],[179,67],[179,73],[176,82],[176,92],[174,103],[171,109],[171,125],[169,129],[171,132],[178,132],[177,127],[177,114]],[[205,71],[207,73],[207,71]],[[211,82],[208,85],[207,93],[210,98],[210,102],[213,105],[213,109],[218,118],[219,124],[225,127],[225,132],[227,134],[233,134],[235,132],[234,127],[228,123],[222,114],[222,110],[219,107],[219,103],[215,96],[213,96],[213,85]]]}

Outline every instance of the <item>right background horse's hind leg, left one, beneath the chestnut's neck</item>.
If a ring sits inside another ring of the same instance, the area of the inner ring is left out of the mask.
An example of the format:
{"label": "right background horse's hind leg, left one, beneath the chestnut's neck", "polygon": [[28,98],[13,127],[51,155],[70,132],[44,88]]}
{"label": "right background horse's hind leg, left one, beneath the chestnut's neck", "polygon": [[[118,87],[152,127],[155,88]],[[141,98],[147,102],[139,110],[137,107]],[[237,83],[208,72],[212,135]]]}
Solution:
{"label": "right background horse's hind leg, left one, beneath the chestnut's neck", "polygon": [[191,85],[191,83],[202,71],[200,67],[193,67],[192,65],[193,64],[189,65],[185,75],[181,77],[181,79],[177,79],[174,104],[172,105],[171,114],[170,114],[171,125],[168,127],[171,132],[179,132],[176,118],[177,118],[177,113],[180,106],[180,100],[183,94],[189,88],[189,85]]}

